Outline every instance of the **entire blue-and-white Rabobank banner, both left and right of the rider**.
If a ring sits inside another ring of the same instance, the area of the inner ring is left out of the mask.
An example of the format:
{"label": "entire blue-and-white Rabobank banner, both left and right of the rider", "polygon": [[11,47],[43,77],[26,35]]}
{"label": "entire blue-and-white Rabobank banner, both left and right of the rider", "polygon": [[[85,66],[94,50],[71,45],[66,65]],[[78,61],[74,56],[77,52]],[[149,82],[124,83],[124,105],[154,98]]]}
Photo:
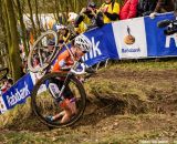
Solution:
{"label": "entire blue-and-white Rabobank banner, both left and right of the rider", "polygon": [[[177,56],[177,34],[165,35],[164,28],[157,28],[162,20],[174,20],[174,13],[164,13],[155,19],[135,18],[116,21],[95,28],[84,34],[93,48],[84,55],[87,65],[106,59],[142,59],[152,56]],[[0,96],[0,113],[25,102],[41,74],[28,73]],[[46,89],[40,88],[41,92]]]}

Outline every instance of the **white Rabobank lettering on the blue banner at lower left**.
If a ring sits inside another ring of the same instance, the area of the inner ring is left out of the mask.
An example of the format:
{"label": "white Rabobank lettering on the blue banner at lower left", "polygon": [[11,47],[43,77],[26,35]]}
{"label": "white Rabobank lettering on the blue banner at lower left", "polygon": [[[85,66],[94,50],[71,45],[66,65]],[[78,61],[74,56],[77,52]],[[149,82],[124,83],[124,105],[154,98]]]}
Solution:
{"label": "white Rabobank lettering on the blue banner at lower left", "polygon": [[21,90],[15,89],[15,93],[12,93],[10,95],[7,95],[7,101],[9,106],[14,106],[18,102],[25,99],[28,95],[30,95],[30,91],[28,88],[28,84],[24,82],[24,88]]}

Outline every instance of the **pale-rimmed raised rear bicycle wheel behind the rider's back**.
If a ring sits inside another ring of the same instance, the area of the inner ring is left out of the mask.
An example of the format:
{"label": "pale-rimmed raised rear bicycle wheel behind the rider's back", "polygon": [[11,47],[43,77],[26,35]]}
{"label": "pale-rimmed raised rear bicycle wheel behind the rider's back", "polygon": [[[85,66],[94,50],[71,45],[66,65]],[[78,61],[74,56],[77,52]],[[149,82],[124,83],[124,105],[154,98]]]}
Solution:
{"label": "pale-rimmed raised rear bicycle wheel behind the rider's back", "polygon": [[[53,48],[49,47],[49,41],[53,41]],[[34,42],[28,56],[28,68],[31,72],[45,70],[56,55],[58,34],[49,30],[43,32]],[[38,66],[37,66],[38,61]]]}

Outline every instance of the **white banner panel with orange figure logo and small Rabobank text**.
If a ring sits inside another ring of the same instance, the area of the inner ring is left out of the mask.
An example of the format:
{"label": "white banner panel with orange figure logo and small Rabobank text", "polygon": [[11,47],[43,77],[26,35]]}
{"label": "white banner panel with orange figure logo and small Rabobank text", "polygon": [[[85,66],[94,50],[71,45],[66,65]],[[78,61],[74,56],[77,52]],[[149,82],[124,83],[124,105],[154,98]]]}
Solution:
{"label": "white banner panel with orange figure logo and small Rabobank text", "polygon": [[128,19],[112,25],[119,59],[147,58],[144,19]]}

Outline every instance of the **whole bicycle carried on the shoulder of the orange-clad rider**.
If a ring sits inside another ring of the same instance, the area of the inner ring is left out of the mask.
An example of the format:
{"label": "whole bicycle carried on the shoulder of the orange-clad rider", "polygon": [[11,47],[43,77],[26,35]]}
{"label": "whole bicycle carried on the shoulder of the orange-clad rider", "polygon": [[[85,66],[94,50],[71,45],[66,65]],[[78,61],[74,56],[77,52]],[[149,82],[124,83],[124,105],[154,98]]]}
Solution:
{"label": "whole bicycle carried on the shoulder of the orange-clad rider", "polygon": [[[42,51],[41,48],[39,48],[37,45],[39,43],[41,43],[41,40],[44,37],[48,37],[51,33],[54,35],[54,38],[56,40],[58,37],[56,37],[55,33],[53,33],[52,31],[45,32],[35,41],[32,50],[39,51],[38,49],[40,49],[39,52],[41,52]],[[55,43],[58,43],[58,41],[55,41]],[[70,48],[66,45],[66,43],[64,43],[63,45],[70,52]],[[42,123],[46,124],[50,127],[64,127],[64,126],[69,126],[69,125],[74,124],[84,113],[84,110],[85,110],[85,106],[86,106],[86,93],[85,93],[85,90],[83,88],[82,82],[77,79],[76,75],[85,74],[86,70],[85,70],[85,66],[83,64],[81,64],[82,65],[82,71],[77,71],[77,66],[82,62],[81,61],[74,61],[74,64],[71,69],[63,70],[63,71],[66,71],[65,74],[59,73],[59,72],[48,73],[52,61],[55,59],[55,56],[60,53],[60,51],[63,48],[59,49],[59,47],[53,45],[53,49],[54,50],[51,52],[51,55],[49,55],[46,58],[46,60],[42,59],[41,54],[39,54],[41,56],[40,58],[40,60],[41,60],[40,68],[32,68],[32,65],[29,68],[33,72],[45,71],[44,73],[46,73],[44,76],[42,76],[37,82],[37,84],[33,88],[33,91],[32,91],[32,94],[31,94],[31,106],[32,106],[33,112],[35,113],[35,115],[38,116],[38,119]],[[70,52],[70,54],[72,54],[72,52]],[[60,89],[59,96],[61,96],[62,93],[64,92],[64,90],[67,88],[67,89],[70,89],[70,91],[72,91],[74,102],[76,104],[77,112],[72,116],[72,119],[70,121],[67,121],[65,123],[60,123],[60,121],[51,122],[51,121],[46,120],[48,115],[62,112],[62,109],[59,105],[56,105],[56,103],[55,103],[56,97],[54,97],[48,89],[49,82],[53,79],[56,80],[56,81],[59,79],[64,80],[63,84],[62,84],[62,88]]]}

